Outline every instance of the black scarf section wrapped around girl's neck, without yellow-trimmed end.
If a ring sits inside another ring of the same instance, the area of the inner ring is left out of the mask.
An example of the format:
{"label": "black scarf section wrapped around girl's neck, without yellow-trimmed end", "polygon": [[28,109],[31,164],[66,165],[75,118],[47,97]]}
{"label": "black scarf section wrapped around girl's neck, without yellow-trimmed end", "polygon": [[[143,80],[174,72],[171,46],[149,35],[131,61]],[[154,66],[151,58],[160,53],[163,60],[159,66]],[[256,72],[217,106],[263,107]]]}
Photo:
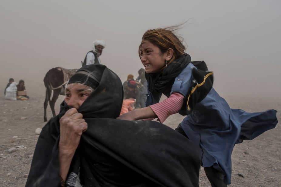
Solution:
{"label": "black scarf section wrapped around girl's neck, without yellow-trimmed end", "polygon": [[189,54],[184,54],[172,63],[168,64],[161,73],[146,73],[148,89],[152,93],[164,93],[169,95],[175,78],[191,62]]}

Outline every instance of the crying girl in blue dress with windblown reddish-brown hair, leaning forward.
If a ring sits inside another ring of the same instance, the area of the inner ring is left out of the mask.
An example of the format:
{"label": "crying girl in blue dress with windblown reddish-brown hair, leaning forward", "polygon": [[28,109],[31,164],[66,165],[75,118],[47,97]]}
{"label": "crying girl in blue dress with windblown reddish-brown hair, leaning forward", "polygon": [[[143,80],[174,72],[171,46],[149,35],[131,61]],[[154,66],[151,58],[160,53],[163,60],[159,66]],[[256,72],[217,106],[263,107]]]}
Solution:
{"label": "crying girl in blue dress with windblown reddish-brown hair, leaning forward", "polygon": [[[176,128],[200,149],[201,165],[212,187],[230,184],[231,154],[236,143],[252,140],[277,124],[276,110],[248,113],[231,109],[212,88],[213,75],[204,61],[191,61],[174,31],[146,31],[139,57],[148,81],[146,107],[118,119],[152,120],[163,123],[174,113],[187,115]],[[168,97],[159,102],[161,95]]]}

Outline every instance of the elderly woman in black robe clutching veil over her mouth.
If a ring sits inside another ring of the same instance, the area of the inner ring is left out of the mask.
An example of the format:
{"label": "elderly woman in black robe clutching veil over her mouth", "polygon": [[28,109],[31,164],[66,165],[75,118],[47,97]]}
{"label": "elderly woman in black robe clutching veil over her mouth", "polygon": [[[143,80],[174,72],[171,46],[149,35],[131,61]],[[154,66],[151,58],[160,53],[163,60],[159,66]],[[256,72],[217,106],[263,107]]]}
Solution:
{"label": "elderly woman in black robe clutching veil over her mouth", "polygon": [[199,186],[189,139],[154,121],[114,119],[122,98],[107,67],[79,69],[59,115],[42,129],[26,186]]}

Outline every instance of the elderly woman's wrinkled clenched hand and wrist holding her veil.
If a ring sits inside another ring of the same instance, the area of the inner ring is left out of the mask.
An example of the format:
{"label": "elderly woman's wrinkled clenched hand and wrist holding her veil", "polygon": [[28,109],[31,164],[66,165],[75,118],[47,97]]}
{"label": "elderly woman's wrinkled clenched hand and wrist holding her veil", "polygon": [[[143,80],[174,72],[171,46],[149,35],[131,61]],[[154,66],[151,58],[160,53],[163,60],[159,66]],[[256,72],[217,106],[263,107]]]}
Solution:
{"label": "elderly woman's wrinkled clenched hand and wrist holding her veil", "polygon": [[59,150],[61,153],[74,153],[77,149],[83,132],[88,128],[88,124],[83,119],[83,115],[77,109],[69,109],[59,120],[60,139]]}

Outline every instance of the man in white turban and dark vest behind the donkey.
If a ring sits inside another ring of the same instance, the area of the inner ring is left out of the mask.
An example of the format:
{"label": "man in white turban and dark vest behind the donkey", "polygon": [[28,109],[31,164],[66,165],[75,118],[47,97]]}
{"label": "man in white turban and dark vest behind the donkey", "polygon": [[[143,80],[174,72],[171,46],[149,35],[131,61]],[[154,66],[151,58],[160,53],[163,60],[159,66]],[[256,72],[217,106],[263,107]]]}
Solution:
{"label": "man in white turban and dark vest behind the donkey", "polygon": [[89,64],[101,64],[99,56],[102,55],[102,50],[105,48],[104,40],[93,41],[93,50],[86,54],[86,57],[82,63],[82,67]]}

